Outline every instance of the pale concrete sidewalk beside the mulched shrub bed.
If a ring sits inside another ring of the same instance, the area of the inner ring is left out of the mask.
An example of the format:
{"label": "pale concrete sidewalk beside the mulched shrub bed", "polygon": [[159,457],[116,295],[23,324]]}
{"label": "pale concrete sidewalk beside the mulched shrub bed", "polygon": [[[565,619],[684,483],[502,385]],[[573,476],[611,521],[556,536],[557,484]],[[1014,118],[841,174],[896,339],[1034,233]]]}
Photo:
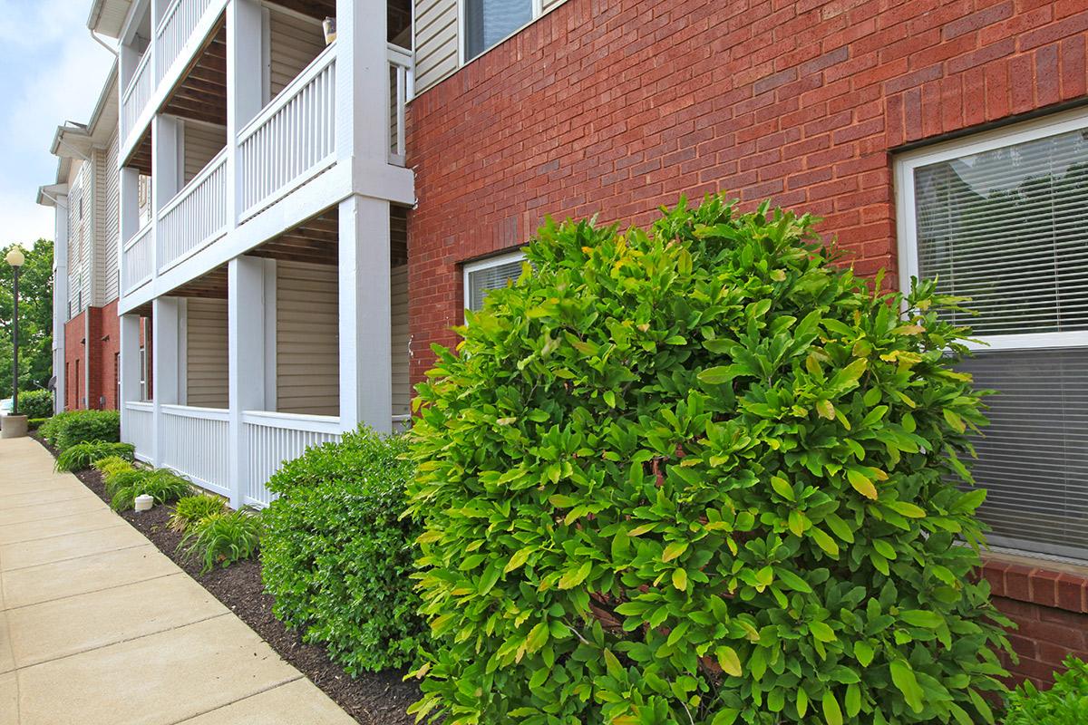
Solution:
{"label": "pale concrete sidewalk beside the mulched shrub bed", "polygon": [[0,723],[355,720],[22,438],[0,440]]}

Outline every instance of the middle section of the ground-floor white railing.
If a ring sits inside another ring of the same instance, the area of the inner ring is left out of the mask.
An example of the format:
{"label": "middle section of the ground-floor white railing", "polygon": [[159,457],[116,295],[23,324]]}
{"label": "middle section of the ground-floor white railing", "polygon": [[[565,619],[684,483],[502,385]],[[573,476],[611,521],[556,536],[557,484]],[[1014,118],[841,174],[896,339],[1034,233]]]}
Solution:
{"label": "middle section of the ground-floor white railing", "polygon": [[162,405],[159,410],[163,445],[159,465],[173,468],[198,486],[230,496],[230,412],[186,405]]}

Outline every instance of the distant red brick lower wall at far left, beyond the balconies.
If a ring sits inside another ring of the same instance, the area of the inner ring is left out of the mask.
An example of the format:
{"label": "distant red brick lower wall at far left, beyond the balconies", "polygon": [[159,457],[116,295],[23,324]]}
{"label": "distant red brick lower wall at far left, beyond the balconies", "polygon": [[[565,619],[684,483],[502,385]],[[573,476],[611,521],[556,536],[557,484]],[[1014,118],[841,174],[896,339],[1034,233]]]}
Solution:
{"label": "distant red brick lower wall at far left, beyond the balconies", "polygon": [[118,317],[116,301],[104,308],[87,308],[65,323],[65,410],[116,408],[115,354],[120,349],[121,321]]}

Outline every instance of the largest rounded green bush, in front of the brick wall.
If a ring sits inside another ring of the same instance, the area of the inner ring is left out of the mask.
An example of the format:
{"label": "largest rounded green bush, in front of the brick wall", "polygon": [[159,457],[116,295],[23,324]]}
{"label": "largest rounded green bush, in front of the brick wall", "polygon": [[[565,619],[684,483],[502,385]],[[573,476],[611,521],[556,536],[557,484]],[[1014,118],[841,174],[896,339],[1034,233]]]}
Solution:
{"label": "largest rounded green bush, in front of the brick wall", "polygon": [[[549,224],[420,386],[410,511],[468,723],[992,722],[956,301],[874,293],[720,199]],[[879,286],[879,282],[878,282]]]}

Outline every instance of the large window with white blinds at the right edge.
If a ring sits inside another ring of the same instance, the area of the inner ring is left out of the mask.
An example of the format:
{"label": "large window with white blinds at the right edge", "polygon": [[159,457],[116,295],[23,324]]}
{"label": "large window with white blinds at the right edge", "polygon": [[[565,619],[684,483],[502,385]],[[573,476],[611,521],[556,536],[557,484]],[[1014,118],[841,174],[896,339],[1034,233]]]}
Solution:
{"label": "large window with white blinds at the right edge", "polygon": [[977,314],[963,364],[987,399],[975,478],[991,541],[1088,560],[1088,114],[897,163],[902,285],[937,278]]}

